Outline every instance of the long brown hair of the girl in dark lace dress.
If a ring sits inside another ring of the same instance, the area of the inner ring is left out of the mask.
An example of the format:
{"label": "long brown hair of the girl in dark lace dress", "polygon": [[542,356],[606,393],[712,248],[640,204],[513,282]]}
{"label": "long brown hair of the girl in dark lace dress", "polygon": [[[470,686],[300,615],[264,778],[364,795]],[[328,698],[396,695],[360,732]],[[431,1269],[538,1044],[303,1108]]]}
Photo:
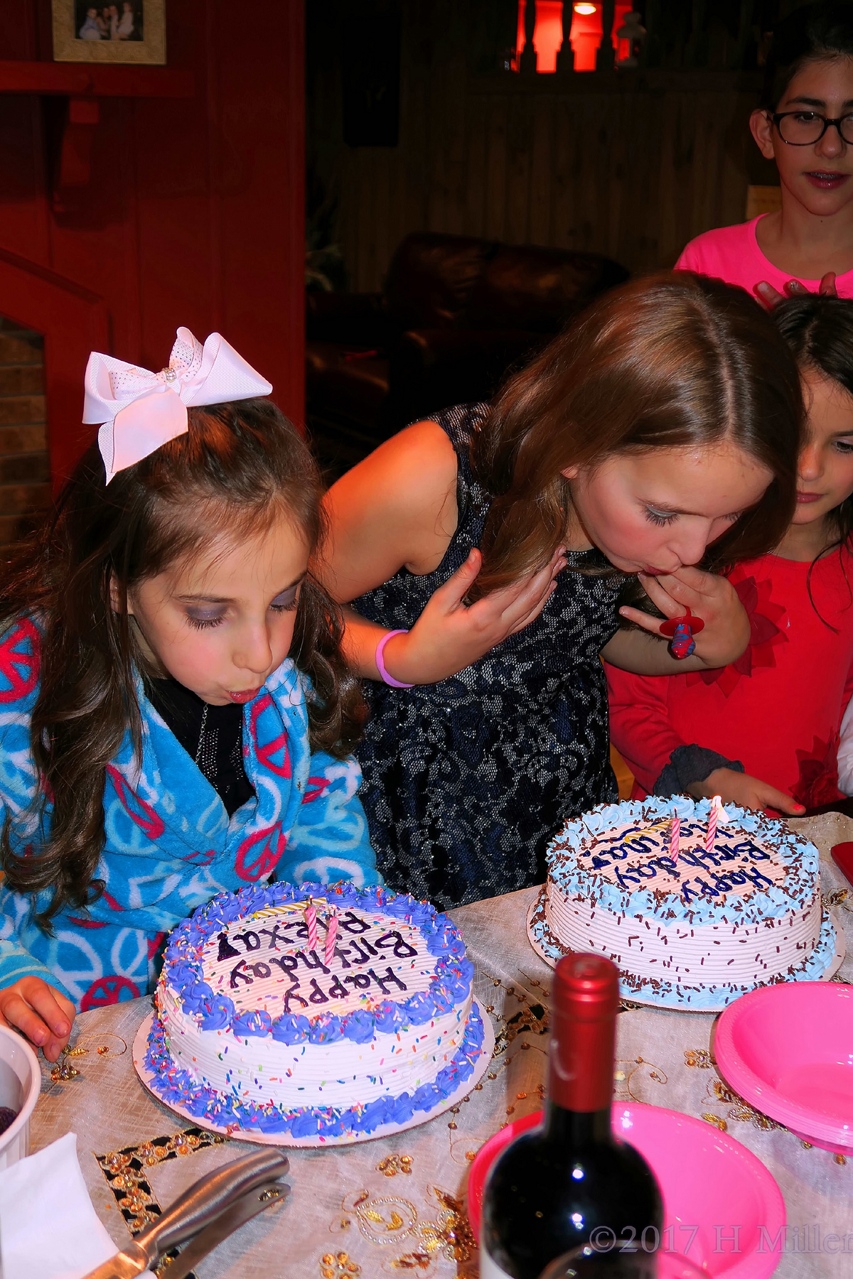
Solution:
{"label": "long brown hair of the girl in dark lace dress", "polygon": [[685,271],[600,298],[494,400],[472,467],[494,495],[472,596],[544,568],[565,537],[570,466],[618,453],[738,445],[772,480],[703,567],[770,550],[794,510],[803,405],[794,358],[743,289]]}

